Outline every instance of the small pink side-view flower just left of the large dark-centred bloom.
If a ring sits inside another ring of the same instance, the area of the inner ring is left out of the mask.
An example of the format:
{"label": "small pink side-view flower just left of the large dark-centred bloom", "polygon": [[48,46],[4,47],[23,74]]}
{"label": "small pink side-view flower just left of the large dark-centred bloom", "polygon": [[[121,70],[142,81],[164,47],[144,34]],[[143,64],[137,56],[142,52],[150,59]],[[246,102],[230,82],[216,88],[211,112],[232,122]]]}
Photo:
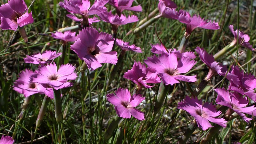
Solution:
{"label": "small pink side-view flower just left of the large dark-centred bloom", "polygon": [[52,37],[62,40],[63,43],[75,42],[77,40],[76,32],[71,32],[71,30],[64,31],[64,33],[57,31],[52,33]]}

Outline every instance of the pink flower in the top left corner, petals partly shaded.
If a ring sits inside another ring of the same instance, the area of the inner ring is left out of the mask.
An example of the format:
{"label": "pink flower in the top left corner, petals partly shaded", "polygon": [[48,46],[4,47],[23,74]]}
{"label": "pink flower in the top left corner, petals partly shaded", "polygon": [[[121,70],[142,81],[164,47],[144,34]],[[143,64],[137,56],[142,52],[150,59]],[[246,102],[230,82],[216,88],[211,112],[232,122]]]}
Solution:
{"label": "pink flower in the top left corner, petals partly shaded", "polygon": [[28,13],[24,0],[9,0],[0,7],[0,16],[2,29],[17,30],[34,22],[32,12]]}

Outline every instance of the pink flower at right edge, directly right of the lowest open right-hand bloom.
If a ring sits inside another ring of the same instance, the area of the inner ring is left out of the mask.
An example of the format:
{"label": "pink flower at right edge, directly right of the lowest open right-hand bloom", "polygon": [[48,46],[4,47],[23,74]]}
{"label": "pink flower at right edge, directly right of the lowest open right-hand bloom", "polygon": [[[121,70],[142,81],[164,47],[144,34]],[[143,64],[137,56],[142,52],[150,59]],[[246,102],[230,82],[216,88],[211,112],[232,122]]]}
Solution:
{"label": "pink flower at right edge, directly right of the lowest open right-hand bloom", "polygon": [[256,115],[256,107],[254,107],[254,105],[245,107],[249,102],[246,97],[243,98],[242,95],[236,92],[229,93],[228,90],[226,91],[224,88],[216,88],[215,91],[218,93],[216,103],[234,110],[245,122],[248,123],[252,120],[252,118],[246,117],[245,114]]}

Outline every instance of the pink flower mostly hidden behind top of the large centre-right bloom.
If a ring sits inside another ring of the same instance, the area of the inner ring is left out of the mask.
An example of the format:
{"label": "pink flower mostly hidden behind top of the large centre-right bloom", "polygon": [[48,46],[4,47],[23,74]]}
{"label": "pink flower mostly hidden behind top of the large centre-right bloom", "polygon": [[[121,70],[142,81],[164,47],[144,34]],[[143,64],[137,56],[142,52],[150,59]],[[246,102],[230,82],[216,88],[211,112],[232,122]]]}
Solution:
{"label": "pink flower mostly hidden behind top of the large centre-right bloom", "polygon": [[[170,51],[171,49],[168,49],[168,52]],[[168,54],[168,52],[166,51],[166,49],[162,44],[151,44],[151,52],[155,54],[161,54],[162,52]],[[177,55],[177,58],[181,58],[181,57],[189,57],[190,59],[196,58],[195,53],[191,51],[180,53],[180,51],[177,51],[175,48],[173,48],[172,53],[175,53]]]}

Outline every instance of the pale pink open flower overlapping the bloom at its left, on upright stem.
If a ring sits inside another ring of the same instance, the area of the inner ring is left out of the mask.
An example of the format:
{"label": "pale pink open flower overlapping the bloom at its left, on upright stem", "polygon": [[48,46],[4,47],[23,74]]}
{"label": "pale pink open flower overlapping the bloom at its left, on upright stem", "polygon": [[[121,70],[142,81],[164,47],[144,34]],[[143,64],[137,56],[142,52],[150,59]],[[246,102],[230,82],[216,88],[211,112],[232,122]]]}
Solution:
{"label": "pale pink open flower overlapping the bloom at its left, on upright stem", "polygon": [[57,70],[56,64],[50,63],[38,68],[38,72],[30,76],[30,82],[48,84],[55,90],[67,88],[73,85],[68,80],[74,80],[77,77],[75,69],[71,64],[66,64],[61,65]]}

